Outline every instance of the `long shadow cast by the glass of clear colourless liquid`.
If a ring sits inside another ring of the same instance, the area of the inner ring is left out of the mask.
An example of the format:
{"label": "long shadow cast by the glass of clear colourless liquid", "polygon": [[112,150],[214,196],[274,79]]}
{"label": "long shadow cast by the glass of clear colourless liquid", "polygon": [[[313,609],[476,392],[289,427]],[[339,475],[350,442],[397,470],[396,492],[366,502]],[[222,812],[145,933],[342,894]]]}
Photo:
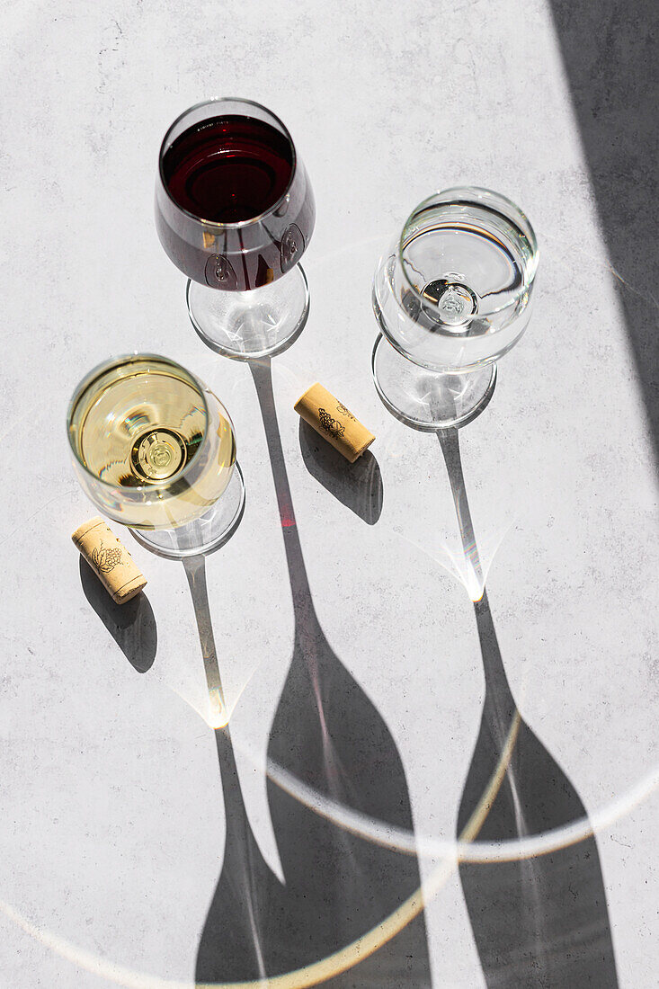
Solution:
{"label": "long shadow cast by the glass of clear colourless liquid", "polygon": [[[465,555],[480,574],[458,433],[445,430],[438,436]],[[485,591],[474,609],[485,702],[460,801],[458,838],[473,816],[478,816],[483,794],[502,763],[505,773],[478,831],[479,840],[514,842],[586,818],[574,784],[519,715]],[[509,760],[506,748],[516,733]],[[460,880],[491,989],[617,986],[607,895],[594,835],[550,854],[462,862]]]}

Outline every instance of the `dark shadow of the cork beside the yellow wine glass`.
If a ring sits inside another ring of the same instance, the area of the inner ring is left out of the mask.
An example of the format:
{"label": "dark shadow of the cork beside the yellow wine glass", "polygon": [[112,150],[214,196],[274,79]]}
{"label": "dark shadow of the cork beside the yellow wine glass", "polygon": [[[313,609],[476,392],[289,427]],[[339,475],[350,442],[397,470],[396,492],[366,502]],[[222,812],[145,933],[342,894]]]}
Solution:
{"label": "dark shadow of the cork beside the yellow wine glass", "polygon": [[115,604],[89,564],[80,557],[80,584],[85,597],[138,673],[150,670],[158,635],[146,594],[141,591],[125,604]]}

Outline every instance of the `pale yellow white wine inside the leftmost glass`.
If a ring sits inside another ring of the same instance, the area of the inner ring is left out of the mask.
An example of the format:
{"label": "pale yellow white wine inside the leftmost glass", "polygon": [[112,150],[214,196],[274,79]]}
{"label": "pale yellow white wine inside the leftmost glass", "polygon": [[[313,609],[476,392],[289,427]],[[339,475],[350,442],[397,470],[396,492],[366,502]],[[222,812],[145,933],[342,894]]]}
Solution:
{"label": "pale yellow white wine inside the leftmost glass", "polygon": [[214,414],[220,421],[205,444],[210,423],[199,390],[168,364],[129,358],[78,399],[73,445],[87,472],[114,489],[125,524],[176,528],[203,514],[231,479],[234,432],[219,410]]}

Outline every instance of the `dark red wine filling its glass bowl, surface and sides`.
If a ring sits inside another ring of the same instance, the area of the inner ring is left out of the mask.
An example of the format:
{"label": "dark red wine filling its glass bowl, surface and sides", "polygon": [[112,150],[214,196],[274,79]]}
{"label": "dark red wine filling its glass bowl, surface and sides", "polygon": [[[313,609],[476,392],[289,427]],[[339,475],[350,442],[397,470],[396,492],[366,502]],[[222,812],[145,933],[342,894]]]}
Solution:
{"label": "dark red wine filling its glass bowl, surface and sides", "polygon": [[158,236],[189,278],[224,291],[267,285],[298,263],[314,195],[289,135],[255,117],[210,117],[160,153]]}

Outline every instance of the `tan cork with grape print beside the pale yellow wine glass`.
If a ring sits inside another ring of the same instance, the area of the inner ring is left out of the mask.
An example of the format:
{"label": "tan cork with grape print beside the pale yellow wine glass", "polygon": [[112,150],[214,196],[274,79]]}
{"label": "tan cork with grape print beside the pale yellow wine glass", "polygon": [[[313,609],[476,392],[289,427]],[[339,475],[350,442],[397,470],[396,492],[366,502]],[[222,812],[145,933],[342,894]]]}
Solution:
{"label": "tan cork with grape print beside the pale yellow wine glass", "polygon": [[133,557],[100,515],[90,518],[71,535],[113,601],[125,604],[146,584]]}

